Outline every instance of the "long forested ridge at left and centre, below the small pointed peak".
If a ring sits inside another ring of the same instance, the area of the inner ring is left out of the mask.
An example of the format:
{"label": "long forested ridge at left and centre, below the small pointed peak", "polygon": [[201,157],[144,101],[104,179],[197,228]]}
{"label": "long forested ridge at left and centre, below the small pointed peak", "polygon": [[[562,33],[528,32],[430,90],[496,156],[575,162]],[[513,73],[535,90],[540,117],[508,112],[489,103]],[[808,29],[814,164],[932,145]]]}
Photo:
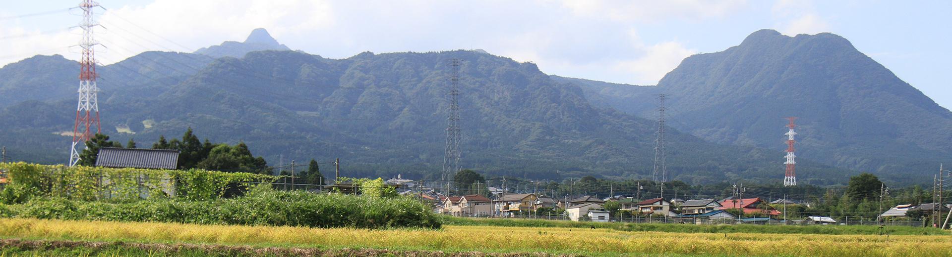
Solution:
{"label": "long forested ridge at left and centre, below the small pointed peak", "polygon": [[[589,103],[586,95],[592,93],[581,82],[481,51],[365,52],[341,60],[287,50],[214,60],[203,54],[144,53],[102,67],[116,72],[101,83],[104,131],[120,141],[135,138],[148,145],[159,135],[175,137],[191,126],[214,141],[245,141],[272,163],[279,155],[286,160],[341,157],[347,162],[345,175],[432,177],[443,157],[450,59],[463,60],[466,168],[534,179],[650,176],[653,120]],[[37,83],[52,82],[23,86]],[[69,139],[59,134],[71,129],[72,116],[63,110],[74,107],[69,96],[74,89],[54,89],[67,97],[18,101],[0,109],[0,124],[8,124],[0,144],[29,149],[21,156],[45,161],[67,156]],[[127,133],[119,133],[119,127]],[[674,179],[711,184],[782,177],[780,150],[724,146],[668,131]],[[804,183],[841,183],[854,174],[809,157],[800,167]]]}

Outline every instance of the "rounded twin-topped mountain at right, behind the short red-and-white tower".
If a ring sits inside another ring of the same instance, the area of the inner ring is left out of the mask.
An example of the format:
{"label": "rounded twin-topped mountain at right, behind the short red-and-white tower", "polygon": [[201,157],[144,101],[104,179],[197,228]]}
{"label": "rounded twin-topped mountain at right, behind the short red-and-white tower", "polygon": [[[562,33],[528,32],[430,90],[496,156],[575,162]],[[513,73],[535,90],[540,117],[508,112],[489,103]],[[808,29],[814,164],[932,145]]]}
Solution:
{"label": "rounded twin-topped mountain at right, behind the short red-and-white tower", "polygon": [[832,33],[759,30],[684,59],[657,86],[613,90],[624,94],[588,99],[650,118],[666,93],[669,123],[713,142],[782,150],[783,118],[800,117],[797,156],[895,179],[952,160],[952,113]]}

